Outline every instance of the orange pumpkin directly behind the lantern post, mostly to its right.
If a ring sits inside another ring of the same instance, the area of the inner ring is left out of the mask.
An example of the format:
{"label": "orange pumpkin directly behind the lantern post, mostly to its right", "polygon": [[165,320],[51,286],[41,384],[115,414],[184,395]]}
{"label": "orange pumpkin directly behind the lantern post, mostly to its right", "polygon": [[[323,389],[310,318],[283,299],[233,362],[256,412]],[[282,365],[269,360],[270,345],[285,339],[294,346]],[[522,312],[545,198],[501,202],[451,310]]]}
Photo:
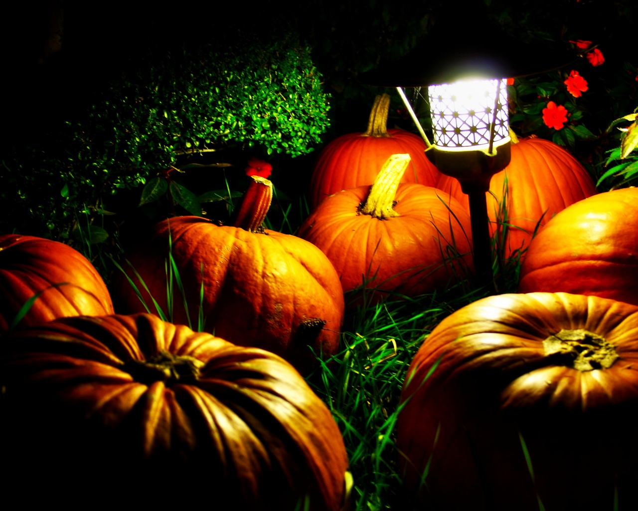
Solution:
{"label": "orange pumpkin directly behind the lantern post, mostly to its right", "polygon": [[[595,194],[596,187],[587,170],[558,144],[535,137],[519,141],[514,133],[511,135],[512,160],[490,180],[487,214],[491,234],[498,233],[501,253],[524,259],[524,250],[538,226],[570,204]],[[468,195],[461,191],[456,178],[441,174],[436,187],[452,195],[469,212]],[[500,211],[501,204],[504,211]]]}

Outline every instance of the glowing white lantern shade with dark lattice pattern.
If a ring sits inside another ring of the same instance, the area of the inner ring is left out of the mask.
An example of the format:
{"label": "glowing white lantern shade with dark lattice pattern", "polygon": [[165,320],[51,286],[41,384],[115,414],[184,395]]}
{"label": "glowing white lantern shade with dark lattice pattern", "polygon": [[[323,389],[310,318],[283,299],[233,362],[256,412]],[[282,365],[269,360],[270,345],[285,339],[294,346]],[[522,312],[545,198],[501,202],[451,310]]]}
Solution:
{"label": "glowing white lantern shade with dark lattice pattern", "polygon": [[437,146],[457,150],[488,148],[494,107],[493,143],[498,146],[509,139],[507,80],[464,80],[431,85],[427,94]]}

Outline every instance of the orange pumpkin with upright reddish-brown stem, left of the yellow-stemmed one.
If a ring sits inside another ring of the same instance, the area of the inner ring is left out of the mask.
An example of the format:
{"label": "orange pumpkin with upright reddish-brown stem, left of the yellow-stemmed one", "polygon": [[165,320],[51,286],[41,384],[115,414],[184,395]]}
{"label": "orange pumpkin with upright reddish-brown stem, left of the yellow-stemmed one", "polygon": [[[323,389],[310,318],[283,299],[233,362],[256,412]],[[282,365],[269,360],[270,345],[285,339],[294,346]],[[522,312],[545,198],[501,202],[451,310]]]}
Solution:
{"label": "orange pumpkin with upright reddish-brown stem, left of the yellow-stemmed one", "polygon": [[[201,315],[206,332],[268,349],[306,372],[315,355],[330,356],[338,349],[343,289],[329,259],[312,243],[262,228],[272,183],[252,178],[234,225],[200,217],[159,222],[149,241],[124,255],[137,272],[127,268],[128,277],[145,303],[152,307],[152,297],[167,311],[170,245],[185,294],[182,298],[175,284],[175,323],[197,325]],[[114,280],[119,312],[144,312],[127,278],[120,274]]]}

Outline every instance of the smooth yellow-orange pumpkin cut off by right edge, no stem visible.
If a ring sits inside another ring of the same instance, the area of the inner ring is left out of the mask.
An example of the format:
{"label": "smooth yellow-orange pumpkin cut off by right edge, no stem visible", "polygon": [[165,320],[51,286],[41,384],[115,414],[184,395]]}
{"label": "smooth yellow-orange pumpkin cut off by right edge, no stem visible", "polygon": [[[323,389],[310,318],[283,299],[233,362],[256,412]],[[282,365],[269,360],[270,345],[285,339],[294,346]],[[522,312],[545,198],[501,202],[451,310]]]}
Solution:
{"label": "smooth yellow-orange pumpkin cut off by right edge, no stem visible", "polygon": [[561,211],[530,243],[519,291],[595,294],[638,305],[638,188]]}

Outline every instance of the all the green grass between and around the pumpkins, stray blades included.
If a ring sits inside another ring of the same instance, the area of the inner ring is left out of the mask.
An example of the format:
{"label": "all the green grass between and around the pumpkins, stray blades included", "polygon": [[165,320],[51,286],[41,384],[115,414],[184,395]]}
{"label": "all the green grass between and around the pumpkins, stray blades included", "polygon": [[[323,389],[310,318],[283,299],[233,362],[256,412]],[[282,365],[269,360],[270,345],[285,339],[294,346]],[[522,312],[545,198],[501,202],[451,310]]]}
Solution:
{"label": "all the green grass between and around the pumpkins, stray blades included", "polygon": [[[507,187],[507,183],[505,186]],[[292,212],[293,202],[285,195],[276,197],[276,203],[279,206],[276,215],[269,215],[276,220],[266,220],[264,226],[294,233],[296,229],[290,218],[294,216],[293,213],[308,215],[308,205],[300,199],[299,204],[295,204],[299,211]],[[503,241],[508,229],[512,227],[508,225],[507,211],[504,208],[498,211],[498,217],[499,229],[492,240],[495,254],[493,270],[501,283],[499,292],[515,291],[523,251],[514,252],[512,257],[505,257]],[[441,256],[446,260],[457,259],[459,254],[452,250],[442,252]],[[128,261],[118,263],[112,259],[112,263],[119,271],[124,271],[122,266]],[[401,387],[413,357],[441,319],[488,293],[485,289],[475,289],[472,286],[466,268],[459,271],[463,275],[457,275],[457,283],[437,293],[417,297],[385,293],[385,300],[373,305],[371,303],[375,289],[360,289],[349,293],[346,303],[348,300],[358,300],[356,303],[359,303],[359,307],[348,309],[350,312],[345,316],[341,351],[328,359],[318,356],[318,367],[306,377],[309,385],[329,407],[343,435],[353,478],[351,511],[409,511],[417,506],[403,489],[403,477],[398,464],[401,454],[394,443]],[[135,268],[133,272],[137,275]],[[165,272],[168,310],[159,309],[154,298],[152,304],[144,305],[149,312],[170,321],[172,300],[175,297],[179,300],[179,296],[185,295],[171,250]],[[140,290],[130,278],[129,282],[142,300]],[[146,288],[141,279],[140,282]],[[201,303],[205,289],[198,291]],[[186,303],[184,306],[188,307]],[[198,324],[189,326],[202,331],[204,321],[200,305]],[[423,475],[424,484],[427,484],[426,475],[427,469]],[[302,510],[307,506],[307,502],[299,502],[298,508]]]}

